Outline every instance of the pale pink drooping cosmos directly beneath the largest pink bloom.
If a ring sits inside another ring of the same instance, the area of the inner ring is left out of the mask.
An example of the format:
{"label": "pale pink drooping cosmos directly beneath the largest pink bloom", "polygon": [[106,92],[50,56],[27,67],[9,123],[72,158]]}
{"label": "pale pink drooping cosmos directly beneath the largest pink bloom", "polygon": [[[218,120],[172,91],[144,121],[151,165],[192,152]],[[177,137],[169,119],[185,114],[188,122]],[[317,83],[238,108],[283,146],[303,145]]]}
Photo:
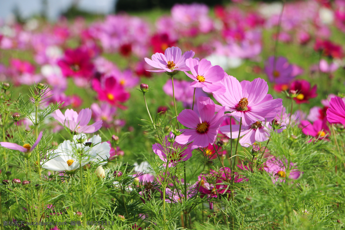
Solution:
{"label": "pale pink drooping cosmos directly beneath the largest pink bloom", "polygon": [[[272,127],[270,126],[269,122],[260,121],[257,121],[250,126],[242,126],[240,137],[243,136],[243,138],[241,138],[238,143],[240,143],[243,147],[249,147],[252,146],[255,141],[267,141],[270,136],[270,129],[272,129]],[[220,127],[220,131],[224,133],[228,138],[232,136],[233,139],[236,139],[238,137],[239,124],[232,125],[232,132],[230,132],[230,126]]]}

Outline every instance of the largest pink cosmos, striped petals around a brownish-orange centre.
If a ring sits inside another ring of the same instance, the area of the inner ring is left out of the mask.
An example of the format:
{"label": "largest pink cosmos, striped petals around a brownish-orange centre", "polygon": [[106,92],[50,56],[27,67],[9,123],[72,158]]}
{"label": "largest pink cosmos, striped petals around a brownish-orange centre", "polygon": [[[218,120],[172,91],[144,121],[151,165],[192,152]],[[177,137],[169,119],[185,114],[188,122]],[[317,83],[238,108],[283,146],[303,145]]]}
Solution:
{"label": "largest pink cosmos, striped petals around a brownish-orange centre", "polygon": [[267,94],[267,82],[256,78],[252,82],[239,82],[233,76],[225,76],[222,83],[226,88],[224,95],[214,92],[214,98],[231,112],[231,116],[242,118],[244,126],[256,121],[273,120],[277,116],[277,107],[282,106],[282,99],[273,99]]}

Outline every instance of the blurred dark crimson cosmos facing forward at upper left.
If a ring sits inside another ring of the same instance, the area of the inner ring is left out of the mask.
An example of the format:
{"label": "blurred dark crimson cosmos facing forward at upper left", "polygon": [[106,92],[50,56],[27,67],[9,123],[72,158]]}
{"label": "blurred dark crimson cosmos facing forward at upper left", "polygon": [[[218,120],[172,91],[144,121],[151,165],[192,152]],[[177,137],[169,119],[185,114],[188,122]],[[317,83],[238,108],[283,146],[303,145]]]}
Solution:
{"label": "blurred dark crimson cosmos facing forward at upper left", "polygon": [[65,77],[82,77],[89,79],[92,76],[95,66],[87,50],[77,48],[75,50],[67,49],[58,65]]}

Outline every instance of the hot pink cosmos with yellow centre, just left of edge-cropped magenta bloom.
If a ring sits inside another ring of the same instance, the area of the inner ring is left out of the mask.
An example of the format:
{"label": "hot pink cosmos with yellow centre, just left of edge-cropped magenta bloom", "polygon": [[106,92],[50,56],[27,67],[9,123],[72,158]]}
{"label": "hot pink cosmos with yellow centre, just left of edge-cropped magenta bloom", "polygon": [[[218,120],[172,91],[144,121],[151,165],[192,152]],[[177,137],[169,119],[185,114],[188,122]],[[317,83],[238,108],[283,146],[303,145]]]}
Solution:
{"label": "hot pink cosmos with yellow centre, just left of edge-cropped magenta bloom", "polygon": [[308,136],[316,137],[316,139],[324,139],[329,134],[329,128],[327,127],[327,120],[316,120],[313,124],[309,121],[301,121],[300,127],[302,132]]}

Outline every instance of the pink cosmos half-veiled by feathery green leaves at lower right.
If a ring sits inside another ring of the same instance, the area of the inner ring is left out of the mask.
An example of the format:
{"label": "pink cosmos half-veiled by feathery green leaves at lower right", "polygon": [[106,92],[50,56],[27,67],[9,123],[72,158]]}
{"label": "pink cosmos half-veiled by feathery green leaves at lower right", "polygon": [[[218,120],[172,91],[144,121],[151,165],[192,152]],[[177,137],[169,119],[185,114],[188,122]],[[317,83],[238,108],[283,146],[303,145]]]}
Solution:
{"label": "pink cosmos half-veiled by feathery green leaves at lower right", "polygon": [[[276,157],[267,160],[266,165],[264,166],[264,170],[271,175],[273,183],[276,183],[277,181],[285,182],[286,169],[287,160],[285,159],[285,163],[283,163],[282,160],[279,160]],[[294,163],[290,163],[288,178],[296,180],[302,176],[302,174],[303,172],[298,171]]]}

